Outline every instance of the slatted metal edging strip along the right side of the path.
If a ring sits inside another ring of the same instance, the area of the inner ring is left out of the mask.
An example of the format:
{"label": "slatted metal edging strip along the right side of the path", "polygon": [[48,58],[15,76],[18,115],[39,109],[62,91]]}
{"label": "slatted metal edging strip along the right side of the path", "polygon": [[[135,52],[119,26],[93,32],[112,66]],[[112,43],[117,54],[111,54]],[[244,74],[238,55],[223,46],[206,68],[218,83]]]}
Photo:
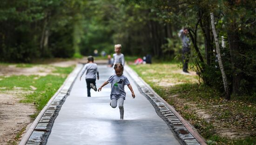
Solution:
{"label": "slatted metal edging strip along the right side of the path", "polygon": [[184,145],[207,145],[202,136],[182,116],[175,111],[173,106],[162,99],[138,74],[128,65],[124,69],[134,79],[140,92],[155,107],[157,114],[167,123],[170,130]]}

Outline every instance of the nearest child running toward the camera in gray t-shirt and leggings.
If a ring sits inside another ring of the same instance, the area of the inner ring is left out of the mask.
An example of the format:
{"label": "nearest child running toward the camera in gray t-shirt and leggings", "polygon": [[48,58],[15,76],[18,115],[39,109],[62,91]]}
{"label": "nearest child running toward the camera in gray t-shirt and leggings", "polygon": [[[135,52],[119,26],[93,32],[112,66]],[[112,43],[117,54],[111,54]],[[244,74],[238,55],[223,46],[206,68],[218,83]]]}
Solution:
{"label": "nearest child running toward the camera in gray t-shirt and leggings", "polygon": [[102,87],[111,83],[111,93],[110,93],[110,105],[112,108],[118,106],[120,110],[120,119],[123,119],[124,109],[123,109],[123,101],[125,100],[126,92],[124,91],[124,86],[127,85],[130,91],[132,92],[132,97],[135,98],[135,94],[133,92],[133,88],[125,75],[123,75],[123,65],[121,63],[117,63],[114,66],[115,74],[109,77],[107,81],[105,81],[101,87],[99,87],[98,91],[101,91]]}

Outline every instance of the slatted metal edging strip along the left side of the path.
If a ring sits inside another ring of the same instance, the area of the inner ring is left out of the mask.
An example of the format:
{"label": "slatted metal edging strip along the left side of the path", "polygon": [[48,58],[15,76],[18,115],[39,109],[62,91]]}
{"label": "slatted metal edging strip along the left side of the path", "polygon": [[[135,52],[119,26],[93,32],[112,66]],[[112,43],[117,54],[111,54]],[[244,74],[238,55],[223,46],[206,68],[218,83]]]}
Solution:
{"label": "slatted metal edging strip along the left side of the path", "polygon": [[28,128],[26,134],[21,138],[19,145],[44,145],[51,132],[54,120],[58,116],[61,105],[69,95],[74,80],[83,68],[82,64],[77,64],[74,71],[71,72],[63,85],[48,101],[47,105],[41,110],[34,120],[33,124]]}

